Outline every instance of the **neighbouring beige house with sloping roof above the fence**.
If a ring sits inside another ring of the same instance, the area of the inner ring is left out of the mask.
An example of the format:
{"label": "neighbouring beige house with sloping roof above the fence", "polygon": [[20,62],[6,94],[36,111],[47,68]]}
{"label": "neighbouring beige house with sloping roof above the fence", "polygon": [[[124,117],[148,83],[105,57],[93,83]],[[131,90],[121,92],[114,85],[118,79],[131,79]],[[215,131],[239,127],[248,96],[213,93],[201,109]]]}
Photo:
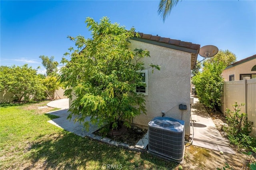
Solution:
{"label": "neighbouring beige house with sloping roof above the fence", "polygon": [[256,78],[256,55],[230,64],[223,70],[222,77],[228,81]]}

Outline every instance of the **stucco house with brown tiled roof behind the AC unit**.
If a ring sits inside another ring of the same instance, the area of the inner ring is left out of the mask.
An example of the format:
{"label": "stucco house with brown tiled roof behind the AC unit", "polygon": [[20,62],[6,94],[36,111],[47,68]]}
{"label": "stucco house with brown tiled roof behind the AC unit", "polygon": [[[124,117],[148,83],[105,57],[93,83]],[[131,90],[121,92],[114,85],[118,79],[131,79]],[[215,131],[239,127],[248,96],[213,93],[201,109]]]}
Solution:
{"label": "stucco house with brown tiled roof behind the AC unit", "polygon": [[[161,70],[152,68],[142,70],[146,88],[137,88],[146,100],[147,114],[141,114],[133,119],[134,124],[148,127],[148,123],[162,112],[166,117],[185,121],[185,138],[190,135],[190,77],[191,69],[197,61],[200,45],[176,39],[139,33],[140,38],[134,37],[128,46],[131,50],[147,49],[150,57],[140,61],[158,64]],[[74,98],[73,98],[74,100]],[[71,105],[72,100],[70,100]],[[186,110],[180,110],[179,105],[186,105]]]}

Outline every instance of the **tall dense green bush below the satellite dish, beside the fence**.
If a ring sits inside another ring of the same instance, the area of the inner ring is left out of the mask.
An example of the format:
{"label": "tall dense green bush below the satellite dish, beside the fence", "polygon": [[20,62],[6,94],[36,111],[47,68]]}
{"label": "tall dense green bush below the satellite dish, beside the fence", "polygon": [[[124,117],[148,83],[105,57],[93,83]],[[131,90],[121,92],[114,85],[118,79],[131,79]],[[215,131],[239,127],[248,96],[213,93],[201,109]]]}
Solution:
{"label": "tall dense green bush below the satellite dish, beside the fence", "polygon": [[206,107],[213,108],[220,106],[224,80],[221,76],[225,68],[224,63],[216,59],[212,63],[204,63],[202,72],[198,72],[193,78],[192,83],[196,87],[198,98]]}

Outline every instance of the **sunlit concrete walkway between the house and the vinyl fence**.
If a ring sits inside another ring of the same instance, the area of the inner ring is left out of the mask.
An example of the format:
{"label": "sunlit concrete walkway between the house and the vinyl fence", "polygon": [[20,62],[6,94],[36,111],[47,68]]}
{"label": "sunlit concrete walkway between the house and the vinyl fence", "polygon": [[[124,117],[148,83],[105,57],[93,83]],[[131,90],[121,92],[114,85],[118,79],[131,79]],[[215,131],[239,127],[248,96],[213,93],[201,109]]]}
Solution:
{"label": "sunlit concrete walkway between the house and the vinyl fence", "polygon": [[[204,106],[199,103],[198,98],[194,98],[191,116],[194,125],[193,145],[236,154],[236,152],[229,147],[228,140],[220,135],[220,132],[216,129],[212,118]],[[193,133],[192,126],[190,133]]]}

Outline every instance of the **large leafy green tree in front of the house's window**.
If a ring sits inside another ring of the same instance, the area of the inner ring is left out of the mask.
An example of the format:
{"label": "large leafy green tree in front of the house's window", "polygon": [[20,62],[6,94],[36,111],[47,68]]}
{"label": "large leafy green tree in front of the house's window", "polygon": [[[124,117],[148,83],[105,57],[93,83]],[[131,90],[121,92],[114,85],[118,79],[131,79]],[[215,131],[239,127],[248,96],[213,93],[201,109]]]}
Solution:
{"label": "large leafy green tree in front of the house's window", "polygon": [[[89,122],[99,125],[107,123],[111,129],[117,129],[120,121],[130,126],[129,122],[136,115],[146,113],[143,94],[136,93],[136,87],[146,86],[142,83],[140,70],[144,70],[143,57],[150,57],[147,50],[131,51],[127,45],[134,37],[135,29],[126,30],[124,26],[110,23],[103,17],[100,22],[86,18],[92,39],[82,35],[69,38],[75,42],[77,49],[71,47],[66,53],[71,60],[63,58],[66,66],[61,68],[61,82],[68,98],[76,97],[70,106],[69,118],[83,122],[88,129]],[[132,60],[134,62],[132,62]],[[160,70],[158,65],[150,67]]]}

